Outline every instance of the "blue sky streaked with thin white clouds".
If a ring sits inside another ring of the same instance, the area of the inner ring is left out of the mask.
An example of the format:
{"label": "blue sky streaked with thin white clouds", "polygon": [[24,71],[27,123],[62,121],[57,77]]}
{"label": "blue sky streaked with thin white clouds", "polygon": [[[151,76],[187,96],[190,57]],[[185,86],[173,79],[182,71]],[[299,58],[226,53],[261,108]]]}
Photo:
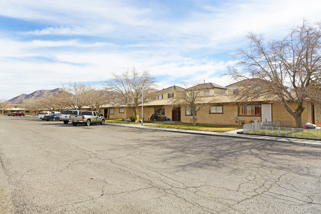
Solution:
{"label": "blue sky streaked with thin white clouds", "polygon": [[282,39],[302,18],[321,20],[320,9],[319,0],[1,0],[0,99],[99,84],[131,67],[159,89],[226,86],[247,32]]}

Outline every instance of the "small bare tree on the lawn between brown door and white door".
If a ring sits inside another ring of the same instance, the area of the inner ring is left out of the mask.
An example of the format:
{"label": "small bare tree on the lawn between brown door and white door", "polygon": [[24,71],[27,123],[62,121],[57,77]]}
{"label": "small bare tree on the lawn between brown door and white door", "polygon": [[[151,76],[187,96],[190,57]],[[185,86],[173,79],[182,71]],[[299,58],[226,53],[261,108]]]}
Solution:
{"label": "small bare tree on the lawn between brown door and white door", "polygon": [[204,107],[209,108],[213,102],[213,97],[204,97],[204,91],[208,88],[204,87],[202,81],[181,82],[186,91],[176,91],[173,99],[171,99],[172,108],[185,107],[188,108],[193,116],[193,126],[195,126],[196,113]]}

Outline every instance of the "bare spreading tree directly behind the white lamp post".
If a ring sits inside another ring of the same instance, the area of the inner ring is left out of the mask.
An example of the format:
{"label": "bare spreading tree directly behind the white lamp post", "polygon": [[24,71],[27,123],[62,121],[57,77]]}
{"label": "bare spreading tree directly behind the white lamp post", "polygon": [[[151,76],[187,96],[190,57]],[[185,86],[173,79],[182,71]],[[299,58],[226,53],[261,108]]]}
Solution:
{"label": "bare spreading tree directly behind the white lamp post", "polygon": [[141,104],[142,89],[143,101],[154,96],[156,79],[151,76],[149,70],[137,72],[135,67],[127,68],[121,74],[112,73],[112,78],[101,81],[102,86],[107,91],[114,92],[114,105],[126,106],[137,115],[137,107]]}

